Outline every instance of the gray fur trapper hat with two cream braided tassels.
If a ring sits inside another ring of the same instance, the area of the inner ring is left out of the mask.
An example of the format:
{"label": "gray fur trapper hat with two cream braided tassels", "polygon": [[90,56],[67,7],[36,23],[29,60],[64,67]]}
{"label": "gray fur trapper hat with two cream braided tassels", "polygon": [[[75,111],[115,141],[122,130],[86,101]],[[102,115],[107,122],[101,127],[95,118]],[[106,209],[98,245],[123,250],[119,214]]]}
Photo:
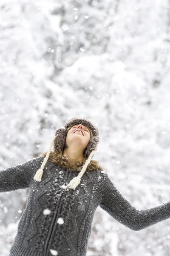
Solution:
{"label": "gray fur trapper hat with two cream braided tassels", "polygon": [[81,177],[82,177],[83,173],[85,172],[85,170],[87,169],[87,166],[90,163],[90,161],[94,155],[94,152],[96,151],[97,146],[100,142],[99,130],[96,128],[95,125],[93,125],[91,123],[90,120],[88,120],[86,118],[74,117],[72,119],[68,119],[65,122],[63,127],[60,127],[55,131],[55,133],[54,133],[55,136],[51,140],[50,147],[48,148],[48,152],[45,156],[45,159],[43,160],[43,163],[42,163],[40,169],[37,170],[37,172],[34,176],[34,180],[39,181],[39,182],[41,181],[43,169],[45,167],[45,164],[47,163],[53,143],[54,143],[54,150],[59,151],[59,153],[63,153],[64,146],[65,146],[65,140],[66,140],[68,131],[71,129],[71,127],[73,127],[74,125],[78,125],[78,124],[87,126],[91,131],[91,140],[88,143],[87,147],[85,148],[85,152],[84,152],[84,157],[86,159],[86,162],[85,162],[84,166],[82,167],[81,172],[79,172],[79,175],[77,175],[77,177],[74,177],[70,181],[70,183],[68,183],[68,185],[67,185],[67,187],[70,189],[75,189],[78,186],[78,184],[80,183]]}

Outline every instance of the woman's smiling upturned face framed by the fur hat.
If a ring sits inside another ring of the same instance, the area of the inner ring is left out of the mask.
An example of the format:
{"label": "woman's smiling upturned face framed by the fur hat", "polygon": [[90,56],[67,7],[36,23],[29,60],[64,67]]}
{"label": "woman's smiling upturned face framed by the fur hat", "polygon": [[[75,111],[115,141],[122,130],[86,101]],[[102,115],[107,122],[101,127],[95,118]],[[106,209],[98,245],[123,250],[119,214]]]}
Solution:
{"label": "woman's smiling upturned face framed by the fur hat", "polygon": [[[77,131],[80,130],[80,131]],[[88,143],[91,140],[91,133],[88,127],[85,125],[79,124],[74,125],[67,133],[66,137],[66,147],[69,145],[74,145],[75,148],[78,148],[82,151],[87,147]]]}

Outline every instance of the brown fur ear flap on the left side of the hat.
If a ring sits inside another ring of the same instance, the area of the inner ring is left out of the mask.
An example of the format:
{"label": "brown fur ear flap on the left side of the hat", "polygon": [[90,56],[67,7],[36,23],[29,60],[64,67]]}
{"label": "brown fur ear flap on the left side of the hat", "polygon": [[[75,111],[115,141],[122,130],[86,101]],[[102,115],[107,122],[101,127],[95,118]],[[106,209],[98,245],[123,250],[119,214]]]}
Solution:
{"label": "brown fur ear flap on the left side of the hat", "polygon": [[55,132],[56,140],[54,140],[54,150],[55,151],[59,151],[59,153],[63,152],[67,133],[68,133],[68,131],[62,127],[60,127],[59,129],[56,130],[56,132]]}

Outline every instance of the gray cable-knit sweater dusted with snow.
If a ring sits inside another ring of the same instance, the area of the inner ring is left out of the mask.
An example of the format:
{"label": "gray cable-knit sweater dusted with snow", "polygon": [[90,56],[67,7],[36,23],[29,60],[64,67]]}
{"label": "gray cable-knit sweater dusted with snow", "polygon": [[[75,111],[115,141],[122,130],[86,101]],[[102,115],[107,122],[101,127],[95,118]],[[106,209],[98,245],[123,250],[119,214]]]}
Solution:
{"label": "gray cable-knit sweater dusted with snow", "polygon": [[10,249],[13,256],[85,256],[98,206],[135,231],[170,218],[170,202],[139,211],[121,195],[108,174],[98,169],[86,170],[77,188],[68,189],[63,185],[77,172],[48,160],[42,181],[34,181],[43,159],[39,156],[0,171],[0,192],[29,187],[26,209]]}

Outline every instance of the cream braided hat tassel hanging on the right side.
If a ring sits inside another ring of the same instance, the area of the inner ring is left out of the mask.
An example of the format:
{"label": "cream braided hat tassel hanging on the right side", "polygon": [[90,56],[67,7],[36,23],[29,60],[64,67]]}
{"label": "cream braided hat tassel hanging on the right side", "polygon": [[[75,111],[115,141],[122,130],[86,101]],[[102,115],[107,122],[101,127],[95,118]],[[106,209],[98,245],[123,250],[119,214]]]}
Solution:
{"label": "cream braided hat tassel hanging on the right side", "polygon": [[67,185],[68,188],[70,189],[75,189],[79,183],[80,183],[80,180],[81,180],[81,177],[83,175],[83,173],[85,172],[88,164],[90,163],[91,161],[91,158],[93,157],[94,155],[94,150],[91,151],[91,154],[89,155],[88,159],[86,160],[84,166],[82,167],[82,170],[81,172],[79,173],[79,175],[77,175],[77,177],[74,177]]}

